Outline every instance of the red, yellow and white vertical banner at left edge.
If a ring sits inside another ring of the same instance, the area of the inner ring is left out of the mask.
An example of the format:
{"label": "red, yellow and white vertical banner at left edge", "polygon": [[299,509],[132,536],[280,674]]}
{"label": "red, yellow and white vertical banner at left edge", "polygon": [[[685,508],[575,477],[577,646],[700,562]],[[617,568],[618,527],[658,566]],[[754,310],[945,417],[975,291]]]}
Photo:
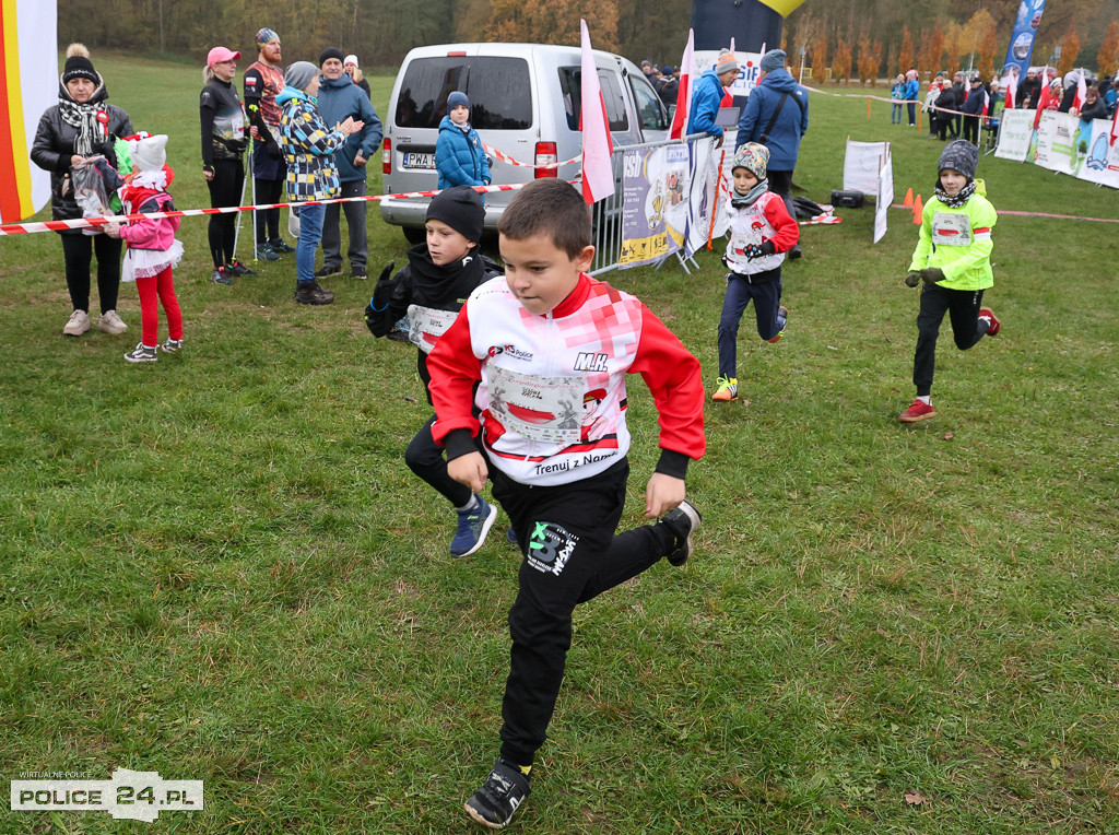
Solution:
{"label": "red, yellow and white vertical banner at left edge", "polygon": [[58,102],[57,10],[0,0],[0,221],[30,217],[50,199],[50,173],[31,162],[39,116]]}

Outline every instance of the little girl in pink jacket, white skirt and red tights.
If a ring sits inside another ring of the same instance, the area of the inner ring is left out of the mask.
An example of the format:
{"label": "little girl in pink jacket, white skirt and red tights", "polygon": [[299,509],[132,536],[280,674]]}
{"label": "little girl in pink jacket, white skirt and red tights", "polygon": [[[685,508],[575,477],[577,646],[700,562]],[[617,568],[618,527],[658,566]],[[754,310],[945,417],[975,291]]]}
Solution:
{"label": "little girl in pink jacket, white skirt and red tights", "polygon": [[[167,137],[148,137],[132,143],[132,173],[124,178],[120,190],[129,215],[173,212],[167,187],[175,172],[167,166]],[[167,315],[168,339],[161,346],[172,354],[182,347],[182,313],[175,298],[171,270],[182,260],[182,242],[175,232],[178,217],[129,221],[124,226],[107,224],[106,234],[124,238],[128,252],[121,270],[122,281],[135,281],[140,293],[140,344],[124,358],[130,363],[154,363],[159,349],[159,304]]]}

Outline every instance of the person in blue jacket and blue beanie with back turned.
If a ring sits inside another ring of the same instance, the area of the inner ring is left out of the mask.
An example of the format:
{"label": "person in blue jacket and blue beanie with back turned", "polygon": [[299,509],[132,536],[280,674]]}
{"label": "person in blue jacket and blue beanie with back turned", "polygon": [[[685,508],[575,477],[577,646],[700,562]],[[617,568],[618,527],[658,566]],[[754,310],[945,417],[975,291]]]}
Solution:
{"label": "person in blue jacket and blue beanie with back turned", "polygon": [[[770,49],[758,68],[758,85],[750,92],[739,116],[734,150],[746,142],[758,142],[769,149],[770,191],[781,195],[789,216],[796,218],[792,171],[797,167],[800,138],[808,132],[808,91],[784,68],[783,49]],[[789,257],[800,257],[800,244],[789,251]]]}

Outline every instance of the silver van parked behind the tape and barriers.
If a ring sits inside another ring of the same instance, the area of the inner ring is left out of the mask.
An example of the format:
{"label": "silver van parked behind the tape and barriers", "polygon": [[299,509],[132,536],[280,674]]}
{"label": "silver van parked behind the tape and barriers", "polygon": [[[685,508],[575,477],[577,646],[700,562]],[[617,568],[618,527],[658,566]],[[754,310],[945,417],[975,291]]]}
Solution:
{"label": "silver van parked behind the tape and barriers", "polygon": [[[667,139],[668,112],[632,62],[594,50],[614,148]],[[382,170],[385,194],[438,187],[435,142],[446,96],[470,98],[470,122],[488,149],[540,168],[514,166],[487,150],[493,185],[534,177],[574,179],[582,150],[581,55],[577,47],[540,44],[446,44],[417,47],[401,65],[385,119]],[[515,193],[486,196],[486,228],[493,229]],[[380,216],[424,240],[430,198],[380,200]]]}

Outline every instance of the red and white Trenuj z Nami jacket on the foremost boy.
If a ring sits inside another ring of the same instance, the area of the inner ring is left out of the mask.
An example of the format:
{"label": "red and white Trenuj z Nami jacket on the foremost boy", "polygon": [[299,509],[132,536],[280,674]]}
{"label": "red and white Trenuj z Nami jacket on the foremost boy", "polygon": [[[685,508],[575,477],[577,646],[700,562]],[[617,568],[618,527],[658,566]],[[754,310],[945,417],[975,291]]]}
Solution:
{"label": "red and white Trenuj z Nami jacket on the foremost boy", "polygon": [[570,484],[626,456],[627,374],[645,378],[657,405],[659,471],[683,478],[706,449],[699,360],[638,299],[586,274],[543,316],[525,310],[505,276],[486,282],[427,368],[435,442],[481,431],[491,463],[521,484]]}

